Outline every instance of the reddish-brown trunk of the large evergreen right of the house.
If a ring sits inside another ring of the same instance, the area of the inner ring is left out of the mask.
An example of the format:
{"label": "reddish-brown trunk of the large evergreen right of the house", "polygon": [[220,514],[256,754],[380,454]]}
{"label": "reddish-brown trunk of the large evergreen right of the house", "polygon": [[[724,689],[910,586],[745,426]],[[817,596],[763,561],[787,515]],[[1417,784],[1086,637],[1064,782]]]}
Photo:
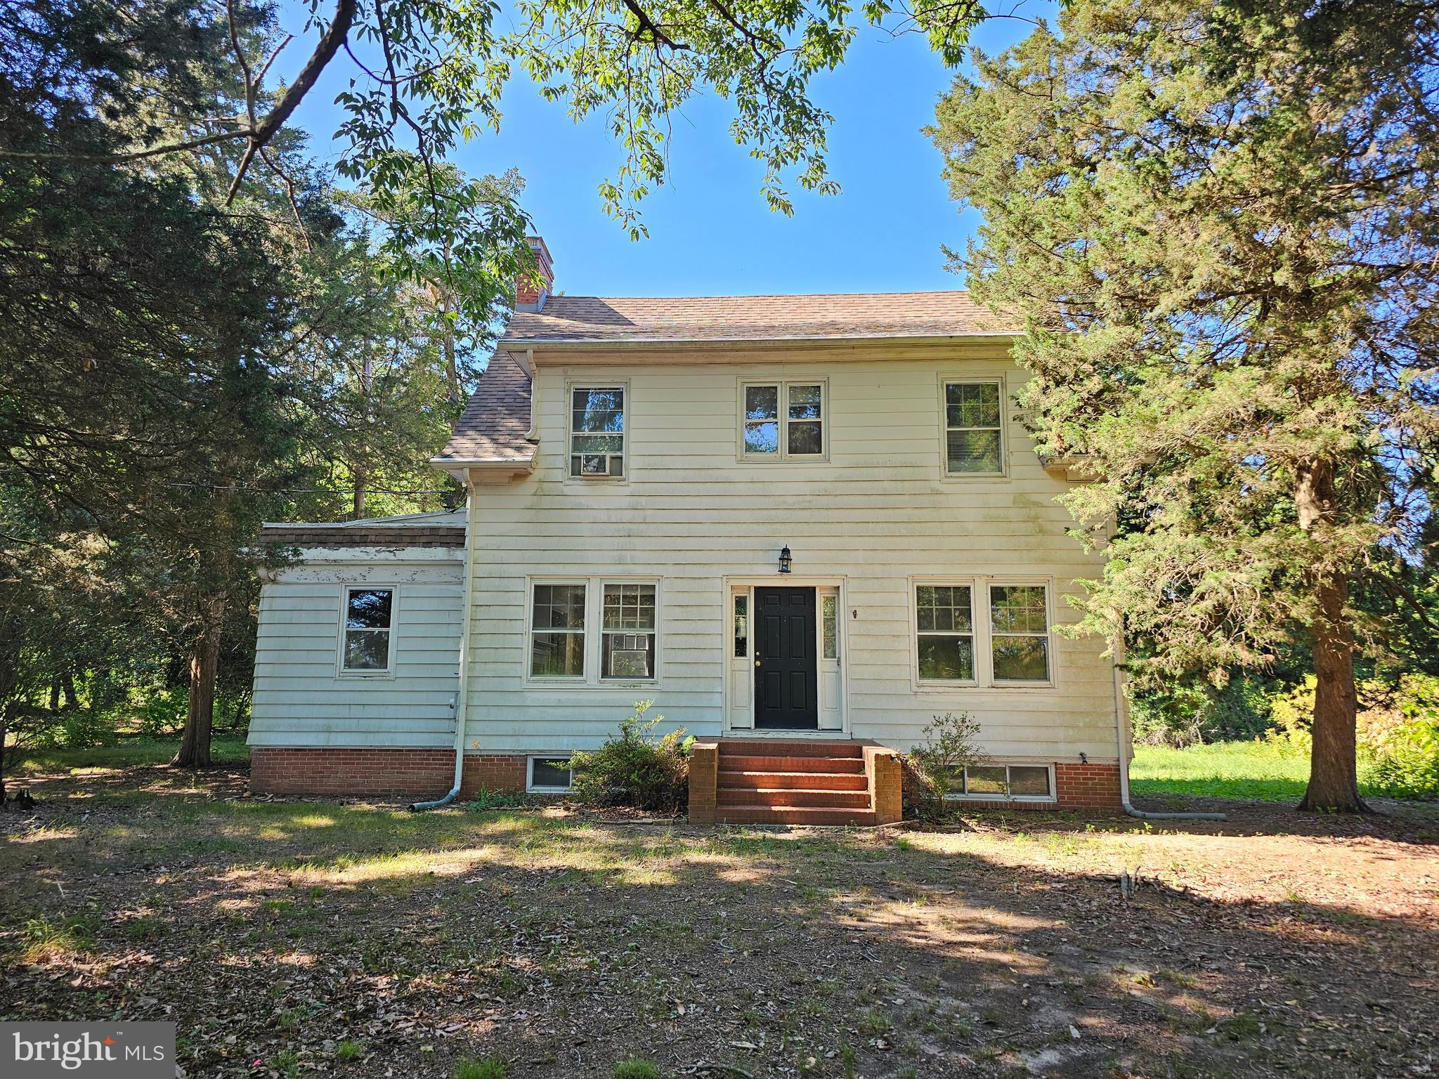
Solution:
{"label": "reddish-brown trunk of the large evergreen right of the house", "polygon": [[[1299,527],[1321,534],[1334,519],[1334,468],[1312,462],[1298,470],[1295,506]],[[1322,537],[1320,537],[1322,540]],[[1317,570],[1314,593],[1318,610],[1309,627],[1314,653],[1314,745],[1309,750],[1309,786],[1301,810],[1363,813],[1358,796],[1358,693],[1354,688],[1354,627],[1344,607],[1348,583],[1334,570]]]}

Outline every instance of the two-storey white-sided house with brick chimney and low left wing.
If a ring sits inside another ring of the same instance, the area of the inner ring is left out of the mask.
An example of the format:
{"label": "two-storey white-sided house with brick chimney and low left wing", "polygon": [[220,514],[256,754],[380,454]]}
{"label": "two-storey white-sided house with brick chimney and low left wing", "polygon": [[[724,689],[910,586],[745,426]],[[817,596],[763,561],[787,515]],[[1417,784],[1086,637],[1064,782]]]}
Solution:
{"label": "two-storey white-sided house with brick chimney and low left wing", "polygon": [[[637,699],[696,735],[696,820],[885,820],[895,751],[981,725],[980,804],[1107,810],[1128,731],[1099,573],[964,292],[551,295],[435,465],[462,512],[269,525],[259,791],[561,791]],[[1127,786],[1124,787],[1127,790]],[[1127,800],[1127,798],[1125,798]]]}

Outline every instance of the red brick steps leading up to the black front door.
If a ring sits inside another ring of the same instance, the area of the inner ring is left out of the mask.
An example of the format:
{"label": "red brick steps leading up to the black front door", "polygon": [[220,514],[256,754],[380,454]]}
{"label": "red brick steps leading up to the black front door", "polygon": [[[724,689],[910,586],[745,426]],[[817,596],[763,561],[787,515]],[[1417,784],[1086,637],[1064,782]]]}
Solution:
{"label": "red brick steps leading up to the black front door", "polygon": [[873,824],[861,742],[721,738],[715,821],[722,824]]}

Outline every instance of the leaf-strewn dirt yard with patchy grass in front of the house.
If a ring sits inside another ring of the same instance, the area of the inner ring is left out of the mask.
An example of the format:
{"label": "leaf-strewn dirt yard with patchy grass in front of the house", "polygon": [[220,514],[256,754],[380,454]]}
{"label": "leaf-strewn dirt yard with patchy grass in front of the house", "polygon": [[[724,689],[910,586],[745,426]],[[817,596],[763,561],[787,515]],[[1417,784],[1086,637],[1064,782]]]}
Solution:
{"label": "leaf-strewn dirt yard with patchy grass in front of the house", "polygon": [[189,1076],[1439,1069],[1420,810],[763,832],[266,801],[235,771],[30,787],[0,1011],[174,1020]]}

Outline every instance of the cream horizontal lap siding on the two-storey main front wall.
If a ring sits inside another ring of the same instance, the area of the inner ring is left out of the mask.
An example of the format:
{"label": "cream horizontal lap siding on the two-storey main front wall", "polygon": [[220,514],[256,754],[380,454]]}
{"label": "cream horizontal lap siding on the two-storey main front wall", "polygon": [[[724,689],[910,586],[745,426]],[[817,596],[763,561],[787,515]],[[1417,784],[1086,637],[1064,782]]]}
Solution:
{"label": "cream horizontal lap siding on the two-storey main front wall", "polygon": [[[846,578],[842,663],[852,735],[908,747],[935,714],[967,711],[996,755],[1078,760],[1085,752],[1112,761],[1114,680],[1098,640],[1053,642],[1055,689],[915,692],[911,685],[911,575],[1053,577],[1053,610],[1066,623],[1075,611],[1063,596],[1081,591],[1073,578],[1099,573],[1053,501],[1069,485],[1043,470],[1013,414],[1006,479],[941,479],[941,373],[1003,375],[1009,394],[1020,381],[997,358],[783,370],[541,365],[535,473],[478,489],[466,738],[494,751],[586,748],[610,734],[635,699],[649,696],[666,721],[720,734],[730,649],[721,578],[774,575],[778,548],[789,545],[796,574]],[[740,377],[827,378],[829,460],[738,463]],[[570,381],[629,383],[629,482],[564,479]],[[661,578],[661,683],[527,685],[527,574]],[[980,616],[981,603],[983,594]]]}

